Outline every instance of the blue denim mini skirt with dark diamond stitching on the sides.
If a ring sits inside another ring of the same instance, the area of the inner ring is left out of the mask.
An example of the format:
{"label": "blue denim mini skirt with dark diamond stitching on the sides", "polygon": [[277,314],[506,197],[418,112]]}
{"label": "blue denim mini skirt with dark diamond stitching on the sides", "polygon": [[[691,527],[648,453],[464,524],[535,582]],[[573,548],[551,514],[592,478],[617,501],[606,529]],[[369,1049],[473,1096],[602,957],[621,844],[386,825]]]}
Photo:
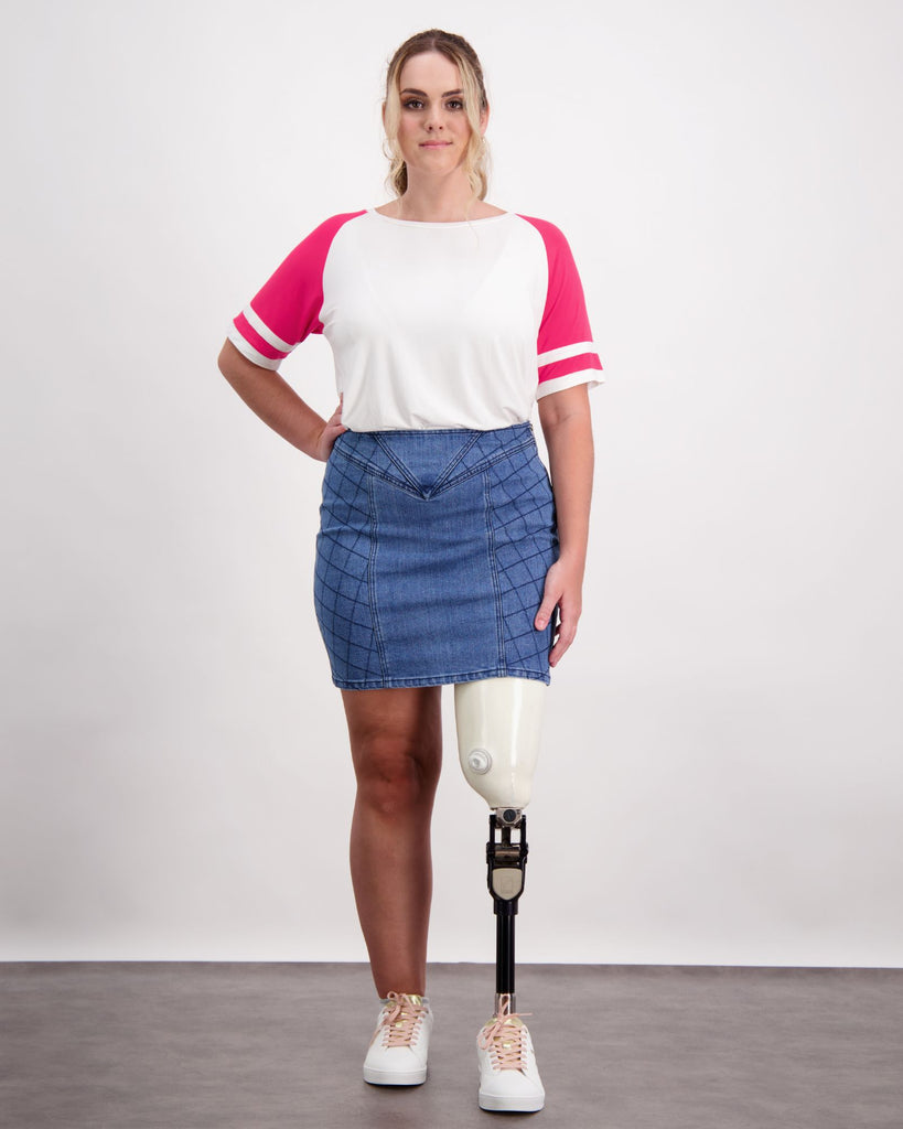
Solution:
{"label": "blue denim mini skirt with dark diamond stitching on the sides", "polygon": [[319,518],[314,603],[336,686],[550,681],[552,629],[533,620],[558,534],[529,422],[343,431]]}

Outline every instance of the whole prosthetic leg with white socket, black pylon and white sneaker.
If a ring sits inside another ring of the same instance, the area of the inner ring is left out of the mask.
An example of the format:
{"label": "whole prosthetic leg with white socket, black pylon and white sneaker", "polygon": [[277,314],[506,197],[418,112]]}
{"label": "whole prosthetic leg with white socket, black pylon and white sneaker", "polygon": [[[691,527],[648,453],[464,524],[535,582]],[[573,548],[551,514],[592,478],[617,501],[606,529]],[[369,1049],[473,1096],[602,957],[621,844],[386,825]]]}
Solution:
{"label": "whole prosthetic leg with white socket, black pylon and white sneaker", "polygon": [[534,1112],[545,1100],[529,1032],[515,1000],[515,917],[528,851],[524,808],[540,752],[545,690],[531,679],[484,679],[455,686],[461,767],[467,784],[492,808],[486,864],[496,912],[496,1006],[477,1039],[484,1110]]}

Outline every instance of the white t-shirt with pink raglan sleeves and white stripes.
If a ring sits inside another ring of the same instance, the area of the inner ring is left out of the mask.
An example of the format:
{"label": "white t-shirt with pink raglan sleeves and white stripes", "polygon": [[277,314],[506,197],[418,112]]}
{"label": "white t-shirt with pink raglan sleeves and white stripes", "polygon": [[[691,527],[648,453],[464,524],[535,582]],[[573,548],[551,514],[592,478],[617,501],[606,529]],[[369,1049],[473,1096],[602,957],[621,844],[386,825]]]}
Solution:
{"label": "white t-shirt with pink raglan sleeves and white stripes", "polygon": [[229,340],[277,369],[308,333],[332,347],[352,431],[508,427],[540,396],[602,380],[567,239],[516,212],[451,224],[332,216]]}

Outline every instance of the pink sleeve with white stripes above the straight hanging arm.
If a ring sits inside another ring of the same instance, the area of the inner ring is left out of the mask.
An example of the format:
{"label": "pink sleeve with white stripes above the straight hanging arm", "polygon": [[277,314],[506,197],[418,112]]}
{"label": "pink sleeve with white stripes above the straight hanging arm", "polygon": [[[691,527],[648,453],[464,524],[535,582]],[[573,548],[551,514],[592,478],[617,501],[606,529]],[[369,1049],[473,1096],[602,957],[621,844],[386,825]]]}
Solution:
{"label": "pink sleeve with white stripes above the straight hanging arm", "polygon": [[602,384],[602,361],[593,342],[584,287],[564,235],[547,220],[524,216],[540,233],[549,265],[545,308],[536,339],[536,399],[562,388]]}

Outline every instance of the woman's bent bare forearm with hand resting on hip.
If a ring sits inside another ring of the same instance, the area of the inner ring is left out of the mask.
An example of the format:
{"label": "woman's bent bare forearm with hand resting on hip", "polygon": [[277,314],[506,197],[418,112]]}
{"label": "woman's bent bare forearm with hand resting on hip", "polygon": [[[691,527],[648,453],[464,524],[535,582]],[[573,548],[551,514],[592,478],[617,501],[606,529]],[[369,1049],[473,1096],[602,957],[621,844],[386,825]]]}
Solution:
{"label": "woman's bent bare forearm with hand resting on hip", "polygon": [[336,438],[348,430],[341,422],[341,397],[330,420],[324,420],[278,373],[248,360],[231,341],[222,345],[219,370],[264,423],[312,458],[325,462]]}

